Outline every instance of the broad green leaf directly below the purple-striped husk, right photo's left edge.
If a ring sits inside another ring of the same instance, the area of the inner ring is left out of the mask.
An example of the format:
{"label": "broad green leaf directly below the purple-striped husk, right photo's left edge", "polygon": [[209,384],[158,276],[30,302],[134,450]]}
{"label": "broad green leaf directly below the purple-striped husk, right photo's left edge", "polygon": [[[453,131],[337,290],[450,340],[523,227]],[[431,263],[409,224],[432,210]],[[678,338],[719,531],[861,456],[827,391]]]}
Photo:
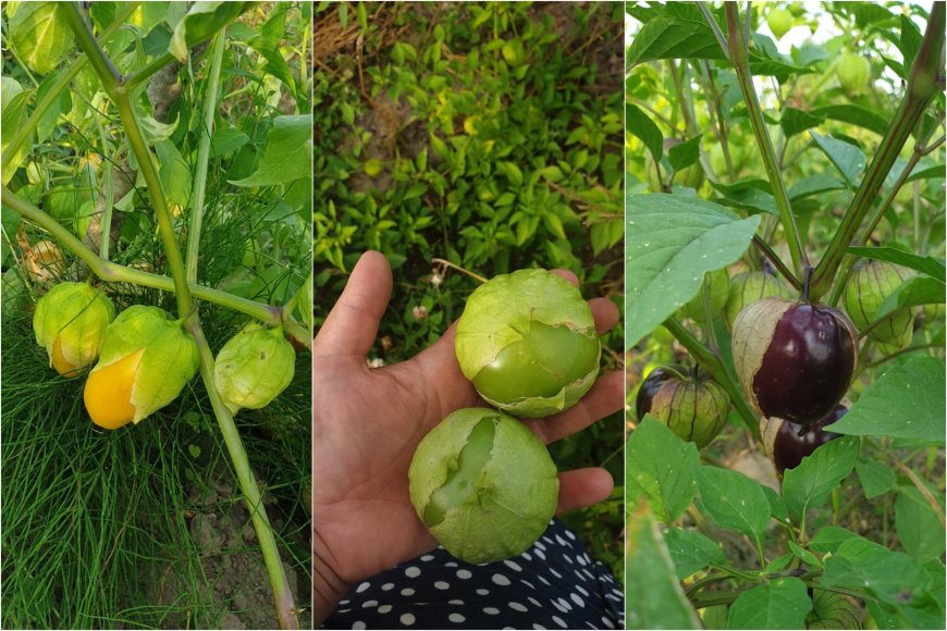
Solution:
{"label": "broad green leaf directly below the purple-striped husk, right photo's left edge", "polygon": [[661,421],[644,417],[625,448],[625,498],[637,506],[642,498],[655,517],[671,523],[690,506],[697,493],[697,446],[677,437]]}

